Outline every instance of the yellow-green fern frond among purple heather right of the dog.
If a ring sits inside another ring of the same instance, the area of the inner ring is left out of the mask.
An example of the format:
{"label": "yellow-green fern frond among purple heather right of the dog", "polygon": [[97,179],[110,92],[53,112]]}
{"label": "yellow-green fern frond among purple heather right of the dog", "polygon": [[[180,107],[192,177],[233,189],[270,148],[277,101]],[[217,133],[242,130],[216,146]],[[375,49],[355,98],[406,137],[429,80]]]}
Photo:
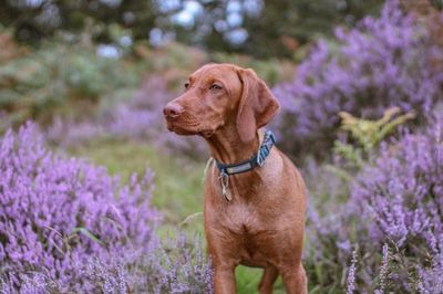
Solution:
{"label": "yellow-green fern frond among purple heather right of the dog", "polygon": [[415,117],[414,112],[399,115],[401,109],[392,107],[379,119],[364,119],[340,112],[341,129],[349,133],[354,144],[334,141],[333,151],[344,158],[348,164],[361,168],[374,148],[392,134],[400,125]]}

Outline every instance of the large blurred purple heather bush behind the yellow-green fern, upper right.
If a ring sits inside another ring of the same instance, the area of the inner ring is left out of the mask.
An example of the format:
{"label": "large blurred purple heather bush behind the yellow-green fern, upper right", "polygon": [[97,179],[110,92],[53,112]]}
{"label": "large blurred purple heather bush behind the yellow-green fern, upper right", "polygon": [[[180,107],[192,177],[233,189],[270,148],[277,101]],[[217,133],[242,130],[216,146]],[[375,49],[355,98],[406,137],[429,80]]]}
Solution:
{"label": "large blurred purple heather bush behind the yellow-green fern, upper right", "polygon": [[[435,18],[433,25],[442,22]],[[373,118],[399,106],[423,119],[443,96],[443,50],[398,1],[388,0],[380,18],[367,17],[350,31],[337,29],[336,36],[338,44],[321,40],[295,80],[274,88],[282,106],[276,125],[292,138],[286,148],[293,153],[330,147],[339,112]]]}

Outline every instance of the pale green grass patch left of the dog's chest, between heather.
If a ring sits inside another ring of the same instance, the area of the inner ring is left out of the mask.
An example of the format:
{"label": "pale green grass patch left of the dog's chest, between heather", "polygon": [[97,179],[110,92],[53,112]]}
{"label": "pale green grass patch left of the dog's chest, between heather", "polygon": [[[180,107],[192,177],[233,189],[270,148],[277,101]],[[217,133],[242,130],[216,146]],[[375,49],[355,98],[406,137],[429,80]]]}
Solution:
{"label": "pale green grass patch left of the dog's chest, between heather", "polygon": [[[105,166],[111,175],[122,175],[124,181],[150,166],[156,182],[152,202],[162,210],[168,224],[178,224],[187,216],[203,211],[203,164],[181,161],[150,146],[120,140],[93,140],[71,148],[70,154]],[[199,217],[188,225],[200,221]]]}

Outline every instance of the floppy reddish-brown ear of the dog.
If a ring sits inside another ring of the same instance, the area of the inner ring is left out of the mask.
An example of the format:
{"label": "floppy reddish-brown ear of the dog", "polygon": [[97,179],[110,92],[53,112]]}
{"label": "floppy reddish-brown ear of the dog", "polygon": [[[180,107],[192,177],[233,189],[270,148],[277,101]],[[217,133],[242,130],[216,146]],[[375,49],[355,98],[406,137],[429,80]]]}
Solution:
{"label": "floppy reddish-brown ear of the dog", "polygon": [[237,73],[243,84],[237,113],[237,132],[243,141],[250,141],[257,129],[272,119],[280,105],[253,70],[239,69]]}

